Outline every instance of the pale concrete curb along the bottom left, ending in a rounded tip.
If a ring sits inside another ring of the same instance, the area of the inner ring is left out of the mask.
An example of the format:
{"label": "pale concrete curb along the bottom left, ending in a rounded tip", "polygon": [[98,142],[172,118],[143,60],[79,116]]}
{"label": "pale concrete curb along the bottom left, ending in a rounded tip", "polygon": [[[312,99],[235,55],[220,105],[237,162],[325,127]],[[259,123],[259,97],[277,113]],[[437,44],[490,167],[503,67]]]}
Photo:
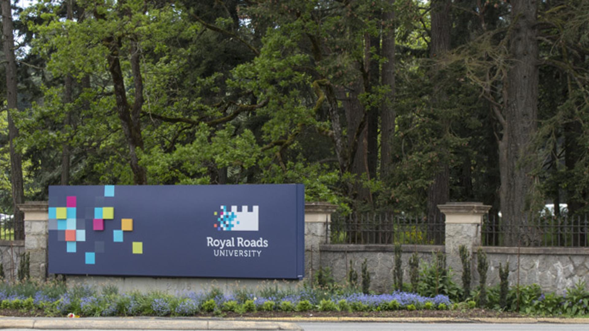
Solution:
{"label": "pale concrete curb along the bottom left, ending in a rounded tip", "polygon": [[303,330],[290,322],[165,318],[0,317],[0,329],[87,330]]}

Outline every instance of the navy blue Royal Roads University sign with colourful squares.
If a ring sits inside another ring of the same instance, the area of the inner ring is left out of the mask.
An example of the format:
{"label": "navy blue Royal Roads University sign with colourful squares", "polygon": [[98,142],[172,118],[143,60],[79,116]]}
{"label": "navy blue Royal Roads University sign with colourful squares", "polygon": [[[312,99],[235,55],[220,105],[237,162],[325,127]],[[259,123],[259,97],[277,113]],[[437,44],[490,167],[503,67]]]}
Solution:
{"label": "navy blue Royal Roads University sign with colourful squares", "polygon": [[300,279],[302,184],[50,186],[49,273]]}

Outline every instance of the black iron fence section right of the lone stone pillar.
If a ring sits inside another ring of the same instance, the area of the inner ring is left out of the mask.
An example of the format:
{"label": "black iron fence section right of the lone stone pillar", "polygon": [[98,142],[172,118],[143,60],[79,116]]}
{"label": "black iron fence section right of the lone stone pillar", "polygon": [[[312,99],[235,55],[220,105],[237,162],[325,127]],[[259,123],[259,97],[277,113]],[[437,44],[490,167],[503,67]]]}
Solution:
{"label": "black iron fence section right of the lone stone pillar", "polygon": [[523,216],[507,222],[485,217],[482,246],[589,247],[589,219],[584,216]]}

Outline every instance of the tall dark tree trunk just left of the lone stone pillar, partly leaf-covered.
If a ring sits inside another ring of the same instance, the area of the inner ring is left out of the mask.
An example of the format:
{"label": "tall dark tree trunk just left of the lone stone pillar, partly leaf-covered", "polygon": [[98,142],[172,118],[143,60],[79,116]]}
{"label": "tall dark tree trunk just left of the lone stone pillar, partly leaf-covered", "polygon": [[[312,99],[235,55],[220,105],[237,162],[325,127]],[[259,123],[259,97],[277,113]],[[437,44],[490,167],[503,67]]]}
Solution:
{"label": "tall dark tree trunk just left of the lone stone pillar, partly leaf-covered", "polygon": [[[432,0],[432,41],[430,49],[430,57],[434,60],[441,58],[445,52],[450,49],[450,0]],[[431,74],[434,82],[434,91],[432,94],[432,108],[441,108],[440,104],[443,104],[446,100],[446,94],[442,83],[439,81],[441,77],[438,74],[439,67],[434,66]],[[444,120],[444,115],[439,116],[442,118],[442,135],[448,131],[449,124]],[[430,224],[436,224],[435,227],[431,227],[430,231],[438,231],[438,224],[442,223],[442,214],[438,209],[439,204],[445,204],[448,202],[450,197],[450,167],[446,159],[446,154],[450,153],[447,148],[440,147],[438,154],[441,155],[442,161],[438,164],[438,172],[435,174],[434,182],[428,188],[428,222]],[[434,232],[434,233],[436,233]],[[441,236],[435,236],[429,234],[429,237],[435,239],[436,244],[441,244]]]}

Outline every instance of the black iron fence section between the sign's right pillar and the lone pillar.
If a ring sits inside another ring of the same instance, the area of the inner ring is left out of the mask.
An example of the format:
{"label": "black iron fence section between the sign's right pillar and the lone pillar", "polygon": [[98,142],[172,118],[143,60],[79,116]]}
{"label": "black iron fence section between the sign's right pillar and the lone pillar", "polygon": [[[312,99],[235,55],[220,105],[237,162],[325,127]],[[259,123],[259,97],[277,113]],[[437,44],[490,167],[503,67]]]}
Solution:
{"label": "black iron fence section between the sign's right pillar and the lone pillar", "polygon": [[444,215],[438,220],[391,212],[334,215],[332,244],[444,244]]}

